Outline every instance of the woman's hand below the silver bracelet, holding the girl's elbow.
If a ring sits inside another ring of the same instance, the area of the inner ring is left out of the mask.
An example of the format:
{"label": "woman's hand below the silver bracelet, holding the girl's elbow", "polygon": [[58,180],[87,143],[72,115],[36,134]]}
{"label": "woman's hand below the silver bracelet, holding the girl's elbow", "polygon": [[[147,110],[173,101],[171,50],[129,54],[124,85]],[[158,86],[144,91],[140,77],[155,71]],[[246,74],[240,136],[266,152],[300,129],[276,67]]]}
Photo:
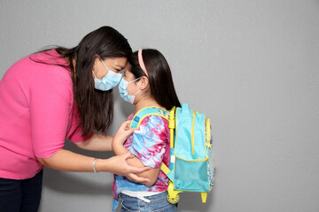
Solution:
{"label": "woman's hand below the silver bracelet, holding the girl's elbow", "polygon": [[[114,174],[125,176],[136,183],[148,183],[150,182],[150,178],[138,177],[136,174],[144,172],[145,170],[150,170],[150,167],[136,167],[128,164],[127,160],[130,158],[134,158],[135,156],[131,153],[127,153],[125,155],[117,155],[109,158],[110,160],[110,170],[109,172],[113,172]],[[98,163],[97,163],[98,164]]]}

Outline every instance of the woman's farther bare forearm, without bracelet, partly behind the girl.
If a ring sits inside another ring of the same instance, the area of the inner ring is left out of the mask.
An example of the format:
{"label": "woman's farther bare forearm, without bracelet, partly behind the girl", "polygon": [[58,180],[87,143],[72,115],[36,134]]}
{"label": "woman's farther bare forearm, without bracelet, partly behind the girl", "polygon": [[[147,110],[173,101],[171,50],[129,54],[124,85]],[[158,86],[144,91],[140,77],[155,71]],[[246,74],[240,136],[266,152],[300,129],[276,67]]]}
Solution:
{"label": "woman's farther bare forearm, without bracelet, partly behind the girl", "polygon": [[84,142],[73,142],[78,148],[91,151],[112,151],[113,136],[94,133],[89,140]]}

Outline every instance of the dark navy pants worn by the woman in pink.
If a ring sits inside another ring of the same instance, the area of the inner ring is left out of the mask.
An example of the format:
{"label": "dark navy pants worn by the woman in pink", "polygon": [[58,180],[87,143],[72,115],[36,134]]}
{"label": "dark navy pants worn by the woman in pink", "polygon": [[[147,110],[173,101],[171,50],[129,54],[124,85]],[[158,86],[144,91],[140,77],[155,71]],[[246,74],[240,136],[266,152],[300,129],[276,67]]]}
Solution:
{"label": "dark navy pants worn by the woman in pink", "polygon": [[0,178],[0,212],[36,212],[40,205],[43,170],[34,178]]}

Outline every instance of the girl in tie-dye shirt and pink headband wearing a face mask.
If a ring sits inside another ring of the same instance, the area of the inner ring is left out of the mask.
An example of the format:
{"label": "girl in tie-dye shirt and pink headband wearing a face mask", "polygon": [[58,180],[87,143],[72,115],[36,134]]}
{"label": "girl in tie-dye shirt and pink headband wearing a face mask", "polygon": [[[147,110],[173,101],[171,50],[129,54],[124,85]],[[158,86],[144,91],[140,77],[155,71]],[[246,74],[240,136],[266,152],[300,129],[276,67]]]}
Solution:
{"label": "girl in tie-dye shirt and pink headband wearing a face mask", "polygon": [[[145,107],[156,107],[168,117],[167,110],[181,106],[170,68],[158,50],[140,49],[128,57],[128,62],[119,89],[122,99],[136,106],[135,114]],[[128,159],[128,164],[152,167],[139,174],[151,178],[151,182],[138,184],[115,175],[113,209],[121,201],[121,211],[175,211],[177,206],[167,201],[168,178],[159,170],[162,162],[169,163],[168,121],[152,115],[145,117],[138,129],[128,129],[133,117],[134,114],[130,115],[115,134],[113,152],[115,155],[131,152],[136,157]]]}

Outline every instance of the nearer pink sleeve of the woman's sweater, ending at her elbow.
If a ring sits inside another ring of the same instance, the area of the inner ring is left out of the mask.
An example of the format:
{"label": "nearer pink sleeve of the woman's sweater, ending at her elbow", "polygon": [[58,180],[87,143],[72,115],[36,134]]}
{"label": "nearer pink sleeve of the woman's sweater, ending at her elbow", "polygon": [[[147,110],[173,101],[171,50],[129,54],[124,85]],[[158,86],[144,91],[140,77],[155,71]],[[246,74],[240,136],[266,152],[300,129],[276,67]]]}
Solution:
{"label": "nearer pink sleeve of the woman's sweater, ending at her elbow", "polygon": [[[71,127],[73,91],[70,76],[51,65],[30,79],[29,106],[32,145],[36,157],[47,158],[64,147]],[[65,71],[65,70],[64,70]]]}

